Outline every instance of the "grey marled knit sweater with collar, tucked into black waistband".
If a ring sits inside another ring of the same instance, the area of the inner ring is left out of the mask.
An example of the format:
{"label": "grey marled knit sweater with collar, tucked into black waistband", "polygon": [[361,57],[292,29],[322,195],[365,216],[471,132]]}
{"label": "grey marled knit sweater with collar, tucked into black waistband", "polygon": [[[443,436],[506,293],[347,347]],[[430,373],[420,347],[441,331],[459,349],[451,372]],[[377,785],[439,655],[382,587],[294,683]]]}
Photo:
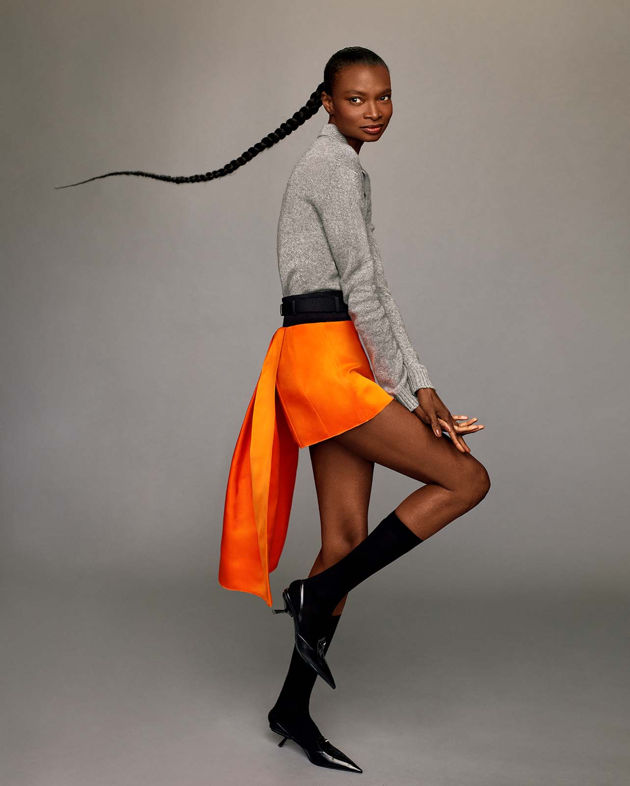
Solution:
{"label": "grey marled knit sweater with collar, tucked into black waistband", "polygon": [[391,296],[373,233],[369,175],[335,123],[325,123],[293,167],[282,199],[282,295],[341,289],[376,380],[415,410],[416,391],[434,385]]}

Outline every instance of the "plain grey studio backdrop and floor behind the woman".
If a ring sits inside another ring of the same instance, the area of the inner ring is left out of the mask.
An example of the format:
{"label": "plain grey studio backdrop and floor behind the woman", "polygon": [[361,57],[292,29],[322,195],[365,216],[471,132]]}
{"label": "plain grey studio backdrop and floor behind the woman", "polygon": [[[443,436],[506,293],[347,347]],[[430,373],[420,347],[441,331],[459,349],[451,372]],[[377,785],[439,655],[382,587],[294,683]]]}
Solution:
{"label": "plain grey studio backdrop and floor behind the woman", "polygon": [[[54,186],[221,167],[357,44],[390,288],[493,487],[353,591],[313,718],[365,784],[627,784],[628,3],[4,8],[2,784],[348,777],[276,747],[289,620],[217,582],[324,110],[218,182]],[[415,487],[376,467],[371,526]],[[275,605],[318,547],[303,450]]]}

